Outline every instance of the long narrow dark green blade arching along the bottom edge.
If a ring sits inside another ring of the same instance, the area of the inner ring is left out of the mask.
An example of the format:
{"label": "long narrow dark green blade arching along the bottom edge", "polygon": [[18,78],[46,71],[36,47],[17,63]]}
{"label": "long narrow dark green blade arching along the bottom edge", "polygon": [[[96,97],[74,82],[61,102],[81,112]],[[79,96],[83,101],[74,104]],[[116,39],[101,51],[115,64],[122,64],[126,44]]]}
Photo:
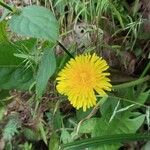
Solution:
{"label": "long narrow dark green blade arching along the bottom edge", "polygon": [[[62,149],[81,150],[95,145],[114,144],[118,142],[129,142],[129,141],[139,141],[139,140],[150,140],[150,135],[144,135],[144,134],[118,134],[117,135],[116,134],[116,135],[99,136],[95,138],[89,138],[85,140],[64,144],[62,146]],[[102,149],[98,149],[98,150],[102,150]],[[112,150],[112,149],[108,149],[108,150]]]}

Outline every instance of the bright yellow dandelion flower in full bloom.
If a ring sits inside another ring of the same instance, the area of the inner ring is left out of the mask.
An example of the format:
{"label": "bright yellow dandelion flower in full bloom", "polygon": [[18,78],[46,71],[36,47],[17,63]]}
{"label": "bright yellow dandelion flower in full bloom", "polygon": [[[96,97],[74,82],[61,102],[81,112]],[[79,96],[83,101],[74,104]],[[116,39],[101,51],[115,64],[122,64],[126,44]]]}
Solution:
{"label": "bright yellow dandelion flower in full bloom", "polygon": [[83,107],[86,111],[96,105],[95,92],[104,96],[105,91],[111,91],[107,77],[110,73],[104,72],[108,68],[106,61],[95,53],[76,56],[59,72],[56,88],[76,109]]}

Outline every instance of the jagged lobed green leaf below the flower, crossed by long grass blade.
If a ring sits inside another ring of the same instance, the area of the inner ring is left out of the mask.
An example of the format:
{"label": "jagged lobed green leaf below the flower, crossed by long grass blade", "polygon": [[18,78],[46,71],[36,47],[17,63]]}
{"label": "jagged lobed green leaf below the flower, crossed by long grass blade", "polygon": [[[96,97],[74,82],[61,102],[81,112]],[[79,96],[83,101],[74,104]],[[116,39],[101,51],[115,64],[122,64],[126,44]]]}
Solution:
{"label": "jagged lobed green leaf below the flower, crossed by long grass blade", "polygon": [[[110,118],[115,109],[116,102],[117,100],[108,99],[102,105],[102,117],[91,118],[83,122],[79,132],[89,133],[89,131],[91,131],[92,137],[135,133],[144,122],[145,115],[141,115],[140,113],[133,113],[128,110],[115,114],[112,121],[110,122]],[[111,145],[95,147],[93,149],[116,150],[120,146],[121,143],[116,143]]]}

